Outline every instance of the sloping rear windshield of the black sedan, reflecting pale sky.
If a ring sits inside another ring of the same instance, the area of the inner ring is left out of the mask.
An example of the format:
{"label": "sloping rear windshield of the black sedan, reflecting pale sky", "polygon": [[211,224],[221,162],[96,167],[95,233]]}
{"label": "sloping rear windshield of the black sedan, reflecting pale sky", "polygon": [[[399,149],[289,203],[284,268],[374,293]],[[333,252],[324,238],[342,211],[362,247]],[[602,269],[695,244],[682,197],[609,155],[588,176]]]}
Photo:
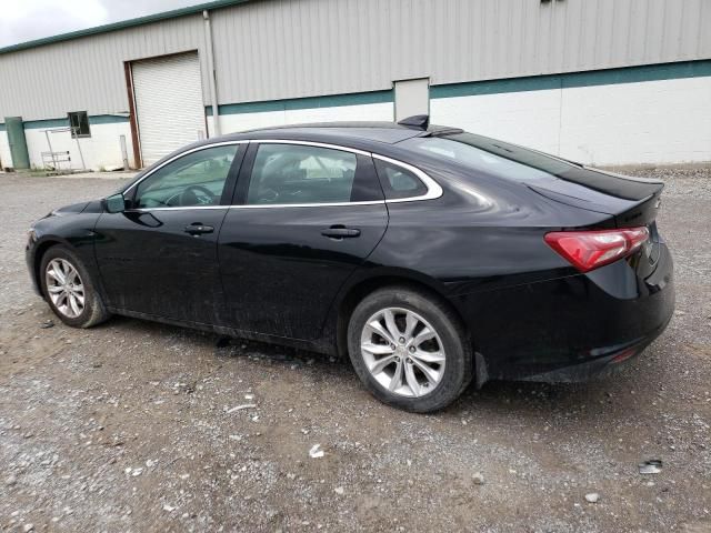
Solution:
{"label": "sloping rear windshield of the black sedan, reflecting pale sky", "polygon": [[560,159],[473,133],[414,137],[400,145],[513,181],[558,177],[575,168]]}

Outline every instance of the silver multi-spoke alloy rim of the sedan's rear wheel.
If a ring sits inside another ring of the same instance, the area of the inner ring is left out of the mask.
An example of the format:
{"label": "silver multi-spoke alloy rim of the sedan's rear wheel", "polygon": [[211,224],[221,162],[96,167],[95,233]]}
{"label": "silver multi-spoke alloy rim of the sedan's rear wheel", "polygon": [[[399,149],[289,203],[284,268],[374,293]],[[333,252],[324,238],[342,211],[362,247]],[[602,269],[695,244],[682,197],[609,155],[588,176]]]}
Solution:
{"label": "silver multi-spoke alloy rim of the sedan's rear wheel", "polygon": [[447,355],[440,335],[409,309],[385,308],[368,319],[360,351],[375,381],[400,396],[430,394],[444,375]]}

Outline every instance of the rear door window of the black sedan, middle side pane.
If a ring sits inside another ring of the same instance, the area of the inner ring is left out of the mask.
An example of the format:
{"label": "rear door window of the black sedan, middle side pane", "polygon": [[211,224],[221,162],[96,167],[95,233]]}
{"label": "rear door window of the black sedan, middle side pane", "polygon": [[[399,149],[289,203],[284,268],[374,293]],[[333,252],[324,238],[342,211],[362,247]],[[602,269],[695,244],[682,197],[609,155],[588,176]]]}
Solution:
{"label": "rear door window of the black sedan, middle side pane", "polygon": [[261,143],[247,204],[341,203],[356,200],[354,153],[301,144]]}

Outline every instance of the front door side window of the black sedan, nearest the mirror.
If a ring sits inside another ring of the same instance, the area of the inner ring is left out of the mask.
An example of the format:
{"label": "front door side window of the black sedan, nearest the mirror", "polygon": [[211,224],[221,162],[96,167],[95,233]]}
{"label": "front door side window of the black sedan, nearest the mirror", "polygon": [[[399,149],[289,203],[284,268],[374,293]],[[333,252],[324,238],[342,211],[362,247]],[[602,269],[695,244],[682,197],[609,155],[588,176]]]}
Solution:
{"label": "front door side window of the black sedan, nearest the mirror", "polygon": [[213,147],[179,158],[138,184],[141,209],[219,205],[238,145]]}

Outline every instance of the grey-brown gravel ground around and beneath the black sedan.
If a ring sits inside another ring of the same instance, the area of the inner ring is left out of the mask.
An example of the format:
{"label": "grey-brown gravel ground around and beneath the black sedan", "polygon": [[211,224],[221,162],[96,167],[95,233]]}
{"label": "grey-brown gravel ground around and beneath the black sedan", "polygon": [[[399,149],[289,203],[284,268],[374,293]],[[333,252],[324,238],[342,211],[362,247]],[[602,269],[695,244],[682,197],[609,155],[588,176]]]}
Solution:
{"label": "grey-brown gravel ground around and beneath the black sedan", "polygon": [[0,174],[0,531],[711,531],[711,170],[644,173],[668,183],[667,332],[605,381],[489,383],[435,415],[314,354],[41,329],[26,230],[121,181]]}

